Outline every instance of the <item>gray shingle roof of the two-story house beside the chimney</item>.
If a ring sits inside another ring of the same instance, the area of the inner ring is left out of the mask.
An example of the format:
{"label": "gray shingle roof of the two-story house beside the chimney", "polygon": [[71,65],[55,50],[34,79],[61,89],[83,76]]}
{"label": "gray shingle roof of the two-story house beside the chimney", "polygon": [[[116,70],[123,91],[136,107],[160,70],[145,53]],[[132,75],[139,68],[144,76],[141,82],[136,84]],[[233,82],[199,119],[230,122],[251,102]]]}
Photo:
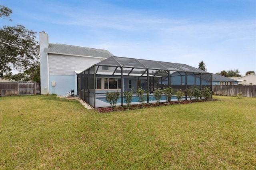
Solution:
{"label": "gray shingle roof of the two-story house beside the chimney", "polygon": [[79,47],[74,45],[66,45],[60,43],[49,43],[49,47],[44,49],[47,53],[57,53],[66,55],[80,55],[80,56],[91,56],[91,57],[101,57],[108,58],[113,56],[108,50],[96,49],[88,47]]}

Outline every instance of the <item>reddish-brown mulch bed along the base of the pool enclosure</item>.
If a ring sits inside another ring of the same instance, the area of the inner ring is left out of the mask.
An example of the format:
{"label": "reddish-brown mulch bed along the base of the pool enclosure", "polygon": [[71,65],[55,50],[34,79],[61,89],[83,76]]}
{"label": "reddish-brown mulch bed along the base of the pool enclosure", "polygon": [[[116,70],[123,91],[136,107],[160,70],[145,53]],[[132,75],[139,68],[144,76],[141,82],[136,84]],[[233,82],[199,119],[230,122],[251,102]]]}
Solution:
{"label": "reddish-brown mulch bed along the base of the pool enclosure", "polygon": [[[217,101],[217,99],[208,99],[207,101]],[[160,106],[168,106],[168,105],[182,105],[182,104],[188,104],[188,103],[196,103],[196,102],[206,102],[203,99],[200,99],[198,101],[196,100],[186,100],[186,101],[171,101],[170,103],[162,102],[159,103],[144,103],[143,108],[150,108],[150,107],[160,107]],[[127,105],[125,106],[116,106],[115,111],[127,111],[127,110],[135,110],[135,109],[142,109],[141,105],[131,105],[131,108],[129,108]],[[101,107],[101,108],[95,108],[98,113],[108,113],[113,112],[113,109],[111,107]]]}

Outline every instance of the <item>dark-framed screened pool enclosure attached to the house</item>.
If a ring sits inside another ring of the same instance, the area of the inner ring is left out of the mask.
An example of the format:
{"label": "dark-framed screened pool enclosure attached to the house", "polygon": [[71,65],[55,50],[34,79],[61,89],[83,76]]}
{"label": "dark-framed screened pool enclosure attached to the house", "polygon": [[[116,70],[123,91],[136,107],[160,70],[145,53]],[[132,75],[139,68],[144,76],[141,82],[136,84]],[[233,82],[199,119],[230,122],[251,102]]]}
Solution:
{"label": "dark-framed screened pool enclosure attached to the house", "polygon": [[107,91],[119,91],[117,105],[126,105],[124,91],[132,88],[134,98],[138,87],[149,92],[145,103],[154,102],[151,95],[164,87],[172,87],[174,92],[191,86],[212,90],[212,73],[186,64],[112,56],[79,73],[77,82],[78,97],[98,108],[110,106],[104,101]]}

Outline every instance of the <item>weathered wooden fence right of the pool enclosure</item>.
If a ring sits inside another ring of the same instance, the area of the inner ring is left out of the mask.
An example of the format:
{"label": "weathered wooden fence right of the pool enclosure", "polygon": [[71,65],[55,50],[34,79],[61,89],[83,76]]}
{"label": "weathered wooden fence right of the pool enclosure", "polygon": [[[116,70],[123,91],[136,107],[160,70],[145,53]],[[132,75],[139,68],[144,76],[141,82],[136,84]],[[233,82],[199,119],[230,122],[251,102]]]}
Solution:
{"label": "weathered wooden fence right of the pool enclosure", "polygon": [[243,97],[256,97],[256,86],[241,86],[241,85],[213,85],[213,95],[236,96],[242,92]]}

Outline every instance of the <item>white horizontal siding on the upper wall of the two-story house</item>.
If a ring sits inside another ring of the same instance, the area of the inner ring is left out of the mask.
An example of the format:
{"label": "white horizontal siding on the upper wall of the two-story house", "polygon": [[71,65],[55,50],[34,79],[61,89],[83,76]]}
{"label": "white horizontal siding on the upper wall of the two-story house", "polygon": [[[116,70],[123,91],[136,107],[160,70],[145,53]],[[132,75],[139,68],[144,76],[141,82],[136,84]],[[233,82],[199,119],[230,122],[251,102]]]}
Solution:
{"label": "white horizontal siding on the upper wall of the two-story house", "polygon": [[49,54],[49,75],[74,76],[75,70],[85,70],[102,58]]}

